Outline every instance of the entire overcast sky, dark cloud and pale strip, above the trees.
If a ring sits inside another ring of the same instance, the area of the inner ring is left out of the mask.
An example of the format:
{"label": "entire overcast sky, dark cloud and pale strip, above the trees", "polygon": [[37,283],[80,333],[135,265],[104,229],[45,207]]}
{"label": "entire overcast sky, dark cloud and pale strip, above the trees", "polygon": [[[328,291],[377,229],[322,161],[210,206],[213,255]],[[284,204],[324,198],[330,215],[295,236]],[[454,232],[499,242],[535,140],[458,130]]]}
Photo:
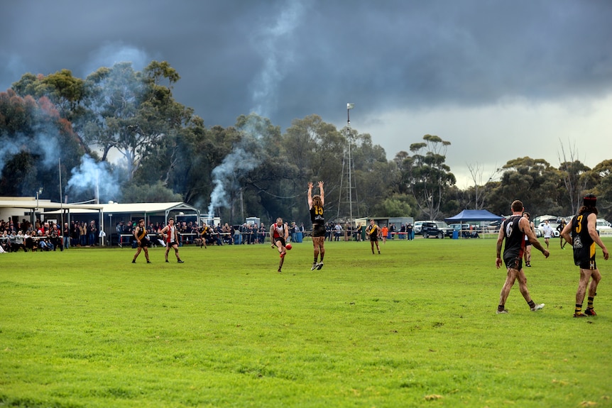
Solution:
{"label": "entire overcast sky, dark cloud and pale strip, above the trees", "polygon": [[[168,61],[207,127],[317,114],[392,159],[433,134],[458,186],[561,145],[612,158],[609,0],[2,1],[0,90],[26,72],[86,77]],[[483,180],[483,181],[485,181]]]}

